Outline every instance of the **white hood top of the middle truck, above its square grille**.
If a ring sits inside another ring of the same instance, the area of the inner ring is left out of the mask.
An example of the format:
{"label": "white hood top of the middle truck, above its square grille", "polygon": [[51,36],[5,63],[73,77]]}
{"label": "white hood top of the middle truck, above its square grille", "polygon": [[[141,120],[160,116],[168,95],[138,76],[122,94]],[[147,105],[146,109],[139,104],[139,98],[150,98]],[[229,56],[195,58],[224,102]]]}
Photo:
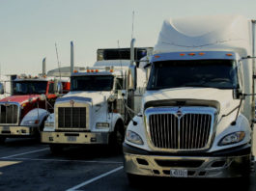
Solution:
{"label": "white hood top of the middle truck, above its square grille", "polygon": [[[105,102],[107,98],[111,95],[111,92],[71,92],[64,95],[62,98],[57,99],[57,101],[71,100],[72,98],[84,98],[86,101],[92,102],[93,105]],[[86,99],[87,98],[87,99]]]}

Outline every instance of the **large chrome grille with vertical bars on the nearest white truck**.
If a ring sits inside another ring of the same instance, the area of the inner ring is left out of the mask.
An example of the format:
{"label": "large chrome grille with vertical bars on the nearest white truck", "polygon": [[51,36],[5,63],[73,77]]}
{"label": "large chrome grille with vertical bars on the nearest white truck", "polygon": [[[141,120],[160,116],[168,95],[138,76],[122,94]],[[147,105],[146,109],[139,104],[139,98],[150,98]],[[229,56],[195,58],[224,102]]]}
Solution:
{"label": "large chrome grille with vertical bars on the nearest white truck", "polygon": [[198,150],[207,147],[212,116],[209,114],[152,114],[149,116],[151,140],[156,148]]}

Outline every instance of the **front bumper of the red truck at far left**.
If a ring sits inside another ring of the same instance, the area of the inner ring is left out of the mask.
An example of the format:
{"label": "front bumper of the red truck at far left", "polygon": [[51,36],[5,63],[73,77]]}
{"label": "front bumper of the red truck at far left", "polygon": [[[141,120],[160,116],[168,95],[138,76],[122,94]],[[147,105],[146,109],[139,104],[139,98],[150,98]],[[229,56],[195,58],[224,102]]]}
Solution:
{"label": "front bumper of the red truck at far left", "polygon": [[0,126],[1,137],[33,137],[37,134],[38,126]]}

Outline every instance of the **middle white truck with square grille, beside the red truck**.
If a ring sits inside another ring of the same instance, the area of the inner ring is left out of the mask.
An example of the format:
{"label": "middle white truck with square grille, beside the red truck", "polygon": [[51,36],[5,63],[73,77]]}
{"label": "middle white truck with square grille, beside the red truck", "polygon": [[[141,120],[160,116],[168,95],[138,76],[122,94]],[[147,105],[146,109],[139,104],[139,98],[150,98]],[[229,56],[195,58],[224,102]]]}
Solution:
{"label": "middle white truck with square grille, beside the red truck", "polygon": [[42,142],[49,144],[52,152],[78,144],[109,144],[122,149],[125,125],[133,117],[134,107],[140,109],[141,96],[136,95],[146,85],[146,72],[136,69],[133,61],[153,49],[133,48],[133,43],[131,50],[99,49],[94,67],[71,74],[71,92],[57,99],[42,132]]}

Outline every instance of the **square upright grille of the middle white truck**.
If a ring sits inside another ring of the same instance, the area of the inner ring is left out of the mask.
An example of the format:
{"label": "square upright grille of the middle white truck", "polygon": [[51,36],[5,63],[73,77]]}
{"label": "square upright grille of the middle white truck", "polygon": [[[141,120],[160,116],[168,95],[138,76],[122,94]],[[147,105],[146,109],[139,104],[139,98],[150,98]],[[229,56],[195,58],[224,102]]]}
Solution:
{"label": "square upright grille of the middle white truck", "polygon": [[59,107],[59,128],[86,128],[86,107]]}

